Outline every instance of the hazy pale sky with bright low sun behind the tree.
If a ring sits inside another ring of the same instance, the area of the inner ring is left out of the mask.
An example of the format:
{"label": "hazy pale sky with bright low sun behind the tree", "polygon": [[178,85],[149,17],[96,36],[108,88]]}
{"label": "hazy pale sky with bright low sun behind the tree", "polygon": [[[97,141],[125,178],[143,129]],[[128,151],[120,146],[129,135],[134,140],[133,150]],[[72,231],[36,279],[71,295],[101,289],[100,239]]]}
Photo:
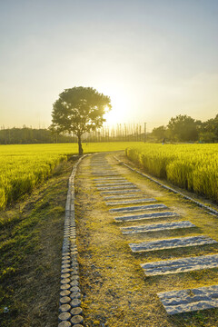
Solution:
{"label": "hazy pale sky with bright low sun behind the tree", "polygon": [[218,114],[218,0],[0,0],[0,126],[48,127],[64,89],[111,97],[108,124]]}

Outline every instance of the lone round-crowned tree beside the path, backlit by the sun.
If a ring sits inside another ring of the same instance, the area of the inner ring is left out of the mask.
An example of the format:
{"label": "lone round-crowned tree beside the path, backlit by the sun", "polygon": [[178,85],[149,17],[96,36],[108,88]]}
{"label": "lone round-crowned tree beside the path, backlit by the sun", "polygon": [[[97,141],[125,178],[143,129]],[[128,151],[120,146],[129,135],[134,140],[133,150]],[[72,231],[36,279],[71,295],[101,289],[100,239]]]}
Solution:
{"label": "lone round-crowned tree beside the path, backlit by the sun", "polygon": [[111,109],[110,97],[92,87],[73,87],[59,94],[53,105],[51,129],[74,133],[78,138],[79,155],[83,154],[81,136],[95,131],[105,122],[103,115]]}

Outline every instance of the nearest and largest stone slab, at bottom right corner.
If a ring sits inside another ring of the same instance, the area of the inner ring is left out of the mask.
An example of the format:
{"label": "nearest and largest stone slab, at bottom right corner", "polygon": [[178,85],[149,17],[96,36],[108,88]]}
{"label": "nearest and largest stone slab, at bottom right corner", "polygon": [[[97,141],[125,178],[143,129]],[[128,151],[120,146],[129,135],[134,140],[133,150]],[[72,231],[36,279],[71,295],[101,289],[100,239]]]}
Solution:
{"label": "nearest and largest stone slab, at bottom right corner", "polygon": [[218,308],[218,285],[157,293],[169,314]]}

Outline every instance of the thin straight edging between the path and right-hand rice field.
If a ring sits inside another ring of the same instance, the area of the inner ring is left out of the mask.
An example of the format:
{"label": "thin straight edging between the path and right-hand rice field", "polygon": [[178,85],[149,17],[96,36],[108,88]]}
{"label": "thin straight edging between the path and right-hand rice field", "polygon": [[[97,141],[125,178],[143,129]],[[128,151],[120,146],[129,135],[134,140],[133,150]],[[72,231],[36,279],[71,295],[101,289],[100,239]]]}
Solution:
{"label": "thin straight edging between the path and right-hand rice field", "polygon": [[218,215],[218,211],[217,211],[217,210],[214,210],[213,208],[209,207],[208,205],[205,205],[205,204],[203,204],[203,203],[200,203],[199,201],[194,200],[194,199],[191,198],[190,196],[187,196],[187,195],[183,194],[182,192],[176,191],[176,190],[174,190],[172,187],[169,187],[169,186],[164,185],[163,183],[161,183],[161,182],[155,180],[153,177],[149,176],[148,174],[146,174],[146,173],[142,173],[142,172],[140,172],[140,171],[134,169],[133,167],[131,167],[131,166],[130,166],[129,164],[127,164],[127,163],[123,163],[120,159],[116,158],[115,156],[114,156],[114,159],[117,160],[118,163],[124,164],[125,167],[129,168],[129,169],[132,170],[133,172],[135,172],[135,173],[139,173],[139,174],[141,174],[142,176],[148,178],[150,181],[152,181],[152,182],[154,182],[154,183],[157,183],[158,185],[162,186],[164,189],[166,189],[166,190],[168,190],[168,191],[170,191],[170,192],[176,193],[176,194],[180,194],[180,195],[183,196],[184,199],[189,200],[189,201],[192,201],[193,203],[199,205],[200,207],[202,207],[202,208],[208,210],[210,213],[213,213],[213,215]]}

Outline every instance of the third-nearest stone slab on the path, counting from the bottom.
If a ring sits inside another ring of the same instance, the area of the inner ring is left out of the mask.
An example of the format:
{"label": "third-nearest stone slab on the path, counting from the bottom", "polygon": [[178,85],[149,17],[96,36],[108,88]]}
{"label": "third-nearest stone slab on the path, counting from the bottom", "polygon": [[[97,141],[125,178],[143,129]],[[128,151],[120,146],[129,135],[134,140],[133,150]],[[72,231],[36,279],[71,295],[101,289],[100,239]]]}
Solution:
{"label": "third-nearest stone slab on the path, counting from the bottom", "polygon": [[177,237],[173,239],[157,240],[143,243],[130,243],[129,246],[134,253],[149,252],[156,250],[167,250],[187,246],[197,246],[217,243],[211,237],[200,235],[191,237]]}

